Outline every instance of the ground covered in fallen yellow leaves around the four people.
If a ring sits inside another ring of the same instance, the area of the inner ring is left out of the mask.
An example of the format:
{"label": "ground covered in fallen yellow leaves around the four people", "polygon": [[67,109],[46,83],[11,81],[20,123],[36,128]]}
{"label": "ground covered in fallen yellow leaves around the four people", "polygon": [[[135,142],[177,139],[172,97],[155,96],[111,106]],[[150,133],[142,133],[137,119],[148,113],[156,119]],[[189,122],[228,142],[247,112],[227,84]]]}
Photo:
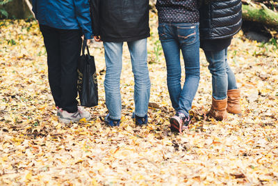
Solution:
{"label": "ground covered in fallen yellow leaves around the four people", "polygon": [[[201,50],[202,73],[193,102],[195,123],[183,134],[168,129],[174,114],[163,52],[151,15],[149,125],[136,127],[133,75],[124,45],[122,123],[104,125],[104,49],[97,61],[99,106],[92,121],[63,125],[47,80],[47,54],[36,22],[0,22],[0,185],[277,185],[278,52],[239,33],[229,64],[242,91],[242,117],[205,121],[211,75]],[[184,75],[184,73],[183,73]],[[184,78],[184,77],[183,77]],[[190,88],[190,87],[188,87]]]}

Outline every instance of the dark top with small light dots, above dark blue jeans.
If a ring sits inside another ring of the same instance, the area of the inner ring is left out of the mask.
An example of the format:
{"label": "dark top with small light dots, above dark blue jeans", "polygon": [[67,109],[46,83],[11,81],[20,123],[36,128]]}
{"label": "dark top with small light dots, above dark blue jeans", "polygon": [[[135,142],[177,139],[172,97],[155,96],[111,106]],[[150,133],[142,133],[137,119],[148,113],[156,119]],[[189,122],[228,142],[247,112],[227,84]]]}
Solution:
{"label": "dark top with small light dots, above dark blue jeans", "polygon": [[198,0],[157,0],[159,22],[199,22]]}

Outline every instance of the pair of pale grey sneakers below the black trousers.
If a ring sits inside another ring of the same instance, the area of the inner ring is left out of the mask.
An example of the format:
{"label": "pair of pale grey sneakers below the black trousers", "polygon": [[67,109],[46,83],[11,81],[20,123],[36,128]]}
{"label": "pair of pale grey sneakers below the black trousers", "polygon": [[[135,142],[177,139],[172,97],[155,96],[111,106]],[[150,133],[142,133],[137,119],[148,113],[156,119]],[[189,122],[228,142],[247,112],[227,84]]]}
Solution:
{"label": "pair of pale grey sneakers below the black trousers", "polygon": [[78,110],[74,113],[61,110],[60,116],[58,116],[59,121],[63,123],[79,122],[82,118],[85,118],[86,121],[89,121],[91,118],[90,112],[85,111],[82,107],[78,107]]}

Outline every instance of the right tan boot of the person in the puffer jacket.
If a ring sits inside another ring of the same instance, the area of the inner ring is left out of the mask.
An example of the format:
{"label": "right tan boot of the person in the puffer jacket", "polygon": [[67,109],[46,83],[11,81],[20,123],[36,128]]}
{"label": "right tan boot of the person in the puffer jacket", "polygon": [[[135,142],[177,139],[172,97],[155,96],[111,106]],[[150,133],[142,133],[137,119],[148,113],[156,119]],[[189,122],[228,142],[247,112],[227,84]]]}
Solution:
{"label": "right tan boot of the person in the puffer jacket", "polygon": [[228,107],[227,112],[231,114],[238,114],[241,116],[241,106],[240,106],[240,89],[228,90]]}

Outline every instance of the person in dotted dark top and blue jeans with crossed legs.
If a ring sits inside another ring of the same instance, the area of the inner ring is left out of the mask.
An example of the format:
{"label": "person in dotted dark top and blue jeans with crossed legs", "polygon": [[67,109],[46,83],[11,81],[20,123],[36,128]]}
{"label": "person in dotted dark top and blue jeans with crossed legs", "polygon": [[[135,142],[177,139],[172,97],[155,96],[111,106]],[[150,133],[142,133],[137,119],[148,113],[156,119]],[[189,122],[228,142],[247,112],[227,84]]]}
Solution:
{"label": "person in dotted dark top and blue jeans with crossed legs", "polygon": [[[199,86],[198,0],[157,0],[158,34],[167,65],[167,87],[176,114],[171,130],[182,132],[190,124],[189,111]],[[181,87],[183,55],[186,79]]]}

